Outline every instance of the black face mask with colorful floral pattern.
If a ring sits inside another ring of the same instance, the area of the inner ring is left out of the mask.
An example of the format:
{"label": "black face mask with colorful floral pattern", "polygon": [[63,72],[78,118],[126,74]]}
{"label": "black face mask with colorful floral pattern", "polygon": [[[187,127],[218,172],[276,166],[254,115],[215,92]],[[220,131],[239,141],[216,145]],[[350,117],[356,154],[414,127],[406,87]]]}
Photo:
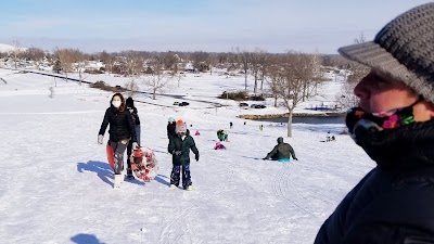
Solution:
{"label": "black face mask with colorful floral pattern", "polygon": [[367,113],[360,107],[350,108],[346,115],[348,132],[353,139],[356,139],[356,129],[358,128],[374,132],[410,125],[414,123],[413,105],[419,101],[406,107],[381,113]]}

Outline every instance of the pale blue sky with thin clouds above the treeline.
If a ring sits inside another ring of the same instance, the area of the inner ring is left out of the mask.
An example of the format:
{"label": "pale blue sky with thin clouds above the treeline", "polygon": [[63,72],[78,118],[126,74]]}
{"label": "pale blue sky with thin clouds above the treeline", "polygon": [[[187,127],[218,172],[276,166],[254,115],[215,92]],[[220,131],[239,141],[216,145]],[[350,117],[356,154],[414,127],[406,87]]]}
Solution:
{"label": "pale blue sky with thin clouds above the treeline", "polygon": [[14,0],[0,42],[46,50],[336,53],[427,0]]}

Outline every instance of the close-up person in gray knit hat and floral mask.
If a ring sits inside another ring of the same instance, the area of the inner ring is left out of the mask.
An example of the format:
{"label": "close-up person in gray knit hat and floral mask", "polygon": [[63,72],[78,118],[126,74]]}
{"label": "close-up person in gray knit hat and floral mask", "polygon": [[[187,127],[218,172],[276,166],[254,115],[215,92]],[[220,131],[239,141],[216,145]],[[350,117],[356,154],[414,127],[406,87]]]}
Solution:
{"label": "close-up person in gray knit hat and floral mask", "polygon": [[346,125],[376,163],[326,220],[316,244],[434,243],[434,3],[340,53],[371,72]]}

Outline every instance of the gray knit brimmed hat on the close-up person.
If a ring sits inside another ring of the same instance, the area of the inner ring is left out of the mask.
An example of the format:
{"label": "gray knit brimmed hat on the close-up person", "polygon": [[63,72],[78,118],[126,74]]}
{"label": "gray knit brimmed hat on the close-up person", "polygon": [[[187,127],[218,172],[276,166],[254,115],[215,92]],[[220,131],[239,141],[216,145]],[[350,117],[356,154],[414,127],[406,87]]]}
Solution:
{"label": "gray knit brimmed hat on the close-up person", "polygon": [[373,41],[339,49],[341,55],[391,75],[434,103],[434,3],[411,9]]}

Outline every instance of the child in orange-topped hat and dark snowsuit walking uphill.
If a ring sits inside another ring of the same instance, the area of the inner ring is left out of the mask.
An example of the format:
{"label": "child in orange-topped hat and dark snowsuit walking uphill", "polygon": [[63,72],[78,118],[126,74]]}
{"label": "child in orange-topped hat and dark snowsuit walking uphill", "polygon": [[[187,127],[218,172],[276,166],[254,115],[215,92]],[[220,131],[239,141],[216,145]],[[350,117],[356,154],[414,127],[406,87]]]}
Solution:
{"label": "child in orange-topped hat and dark snowsuit walking uphill", "polygon": [[194,158],[196,160],[199,160],[199,151],[184,121],[177,121],[176,134],[177,136],[170,140],[168,146],[168,152],[174,155],[170,188],[177,188],[179,185],[179,175],[182,168],[182,188],[184,190],[191,190],[190,150],[195,154]]}

